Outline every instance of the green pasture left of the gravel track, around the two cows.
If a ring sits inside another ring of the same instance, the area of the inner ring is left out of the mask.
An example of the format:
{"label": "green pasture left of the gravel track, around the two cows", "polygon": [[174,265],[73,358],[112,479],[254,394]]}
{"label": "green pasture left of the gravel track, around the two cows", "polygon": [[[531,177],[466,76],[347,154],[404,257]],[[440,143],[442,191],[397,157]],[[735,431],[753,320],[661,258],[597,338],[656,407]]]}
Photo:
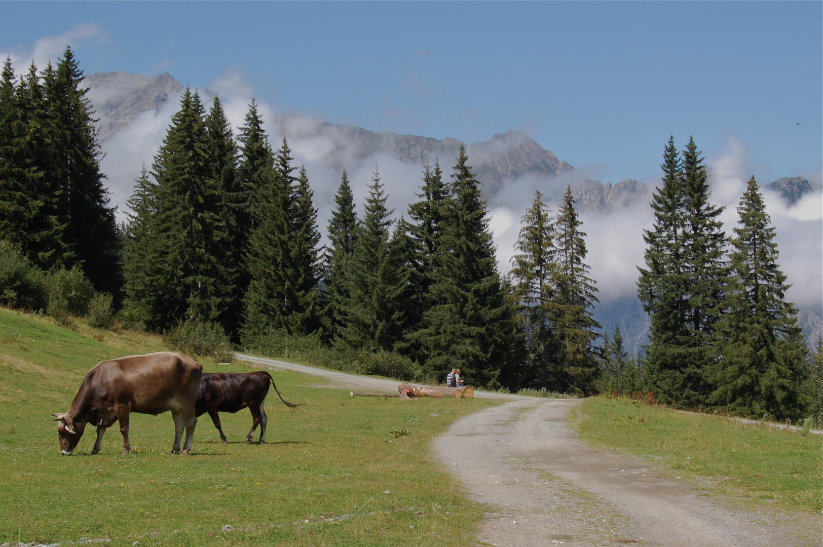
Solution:
{"label": "green pasture left of the gravel track, around the two cows", "polygon": [[67,410],[86,371],[162,349],[156,336],[80,322],[76,330],[0,309],[0,543],[473,545],[483,508],[430,443],[459,416],[498,402],[352,398],[318,387],[320,378],[273,373],[286,400],[302,406],[268,398],[267,444],[241,443],[251,426],[244,410],[221,415],[230,443],[202,416],[192,454],[173,456],[170,415],[134,414],[131,454],[120,454],[115,426],[99,455],[89,455],[89,430],[65,457],[49,413]]}

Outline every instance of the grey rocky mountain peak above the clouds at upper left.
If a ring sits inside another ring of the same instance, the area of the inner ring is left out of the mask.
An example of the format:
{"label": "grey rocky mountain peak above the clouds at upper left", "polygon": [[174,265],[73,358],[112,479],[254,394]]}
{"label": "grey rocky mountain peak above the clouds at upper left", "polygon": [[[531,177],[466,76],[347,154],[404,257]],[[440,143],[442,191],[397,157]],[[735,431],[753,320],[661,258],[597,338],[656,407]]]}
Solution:
{"label": "grey rocky mountain peak above the clouds at upper left", "polygon": [[100,121],[100,140],[105,140],[119,128],[127,126],[137,114],[160,109],[169,95],[183,88],[168,72],[156,78],[128,72],[96,72],[86,76],[86,95],[95,105]]}

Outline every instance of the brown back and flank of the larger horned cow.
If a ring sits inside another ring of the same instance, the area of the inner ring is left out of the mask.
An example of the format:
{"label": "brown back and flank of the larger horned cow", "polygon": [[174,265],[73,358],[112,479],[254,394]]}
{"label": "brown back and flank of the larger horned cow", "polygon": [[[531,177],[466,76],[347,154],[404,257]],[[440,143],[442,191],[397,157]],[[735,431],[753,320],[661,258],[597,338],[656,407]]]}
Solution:
{"label": "brown back and flank of the larger horned cow", "polygon": [[197,360],[169,351],[111,359],[95,369],[89,371],[95,382],[113,388],[118,399],[142,414],[193,408],[202,374]]}

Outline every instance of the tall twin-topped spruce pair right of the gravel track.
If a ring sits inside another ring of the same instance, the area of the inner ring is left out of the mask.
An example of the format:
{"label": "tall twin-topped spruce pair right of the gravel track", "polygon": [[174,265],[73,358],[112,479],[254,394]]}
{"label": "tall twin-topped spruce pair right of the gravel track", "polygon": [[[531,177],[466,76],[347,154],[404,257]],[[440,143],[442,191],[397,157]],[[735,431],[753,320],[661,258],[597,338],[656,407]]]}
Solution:
{"label": "tall twin-topped spruce pair right of the gravel track", "polygon": [[700,406],[711,390],[704,369],[723,310],[723,208],[709,203],[706,169],[693,139],[680,158],[670,137],[662,168],[638,281],[638,297],[651,318],[646,389],[667,403]]}

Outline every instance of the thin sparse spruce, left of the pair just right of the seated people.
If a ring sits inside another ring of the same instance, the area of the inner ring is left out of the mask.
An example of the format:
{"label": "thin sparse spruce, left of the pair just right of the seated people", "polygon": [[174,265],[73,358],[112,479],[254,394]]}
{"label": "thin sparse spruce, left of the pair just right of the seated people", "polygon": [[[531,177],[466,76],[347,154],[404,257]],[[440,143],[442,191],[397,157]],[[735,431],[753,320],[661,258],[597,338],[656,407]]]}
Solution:
{"label": "thin sparse spruce, left of the pair just right of the seated people", "polygon": [[[555,226],[551,210],[542,194],[534,194],[532,206],[521,218],[518,241],[514,246],[511,276],[514,278],[514,299],[523,318],[523,327],[530,353],[539,361],[539,385],[549,389],[549,367],[556,364],[556,336],[552,323],[552,298],[556,274]],[[552,385],[557,371],[552,370]],[[528,378],[525,383],[531,383]]]}

